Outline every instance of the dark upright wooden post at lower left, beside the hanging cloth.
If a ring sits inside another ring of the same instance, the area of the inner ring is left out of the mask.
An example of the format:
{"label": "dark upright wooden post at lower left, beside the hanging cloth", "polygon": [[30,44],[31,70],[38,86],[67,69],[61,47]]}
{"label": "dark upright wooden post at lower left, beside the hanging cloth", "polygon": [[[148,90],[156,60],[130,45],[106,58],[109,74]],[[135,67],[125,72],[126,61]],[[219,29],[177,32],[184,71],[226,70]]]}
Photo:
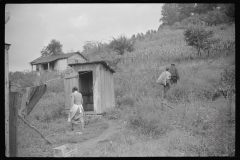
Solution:
{"label": "dark upright wooden post at lower left, beside the hanging cloth", "polygon": [[9,155],[10,157],[17,157],[18,109],[21,106],[22,94],[10,92],[9,96]]}

